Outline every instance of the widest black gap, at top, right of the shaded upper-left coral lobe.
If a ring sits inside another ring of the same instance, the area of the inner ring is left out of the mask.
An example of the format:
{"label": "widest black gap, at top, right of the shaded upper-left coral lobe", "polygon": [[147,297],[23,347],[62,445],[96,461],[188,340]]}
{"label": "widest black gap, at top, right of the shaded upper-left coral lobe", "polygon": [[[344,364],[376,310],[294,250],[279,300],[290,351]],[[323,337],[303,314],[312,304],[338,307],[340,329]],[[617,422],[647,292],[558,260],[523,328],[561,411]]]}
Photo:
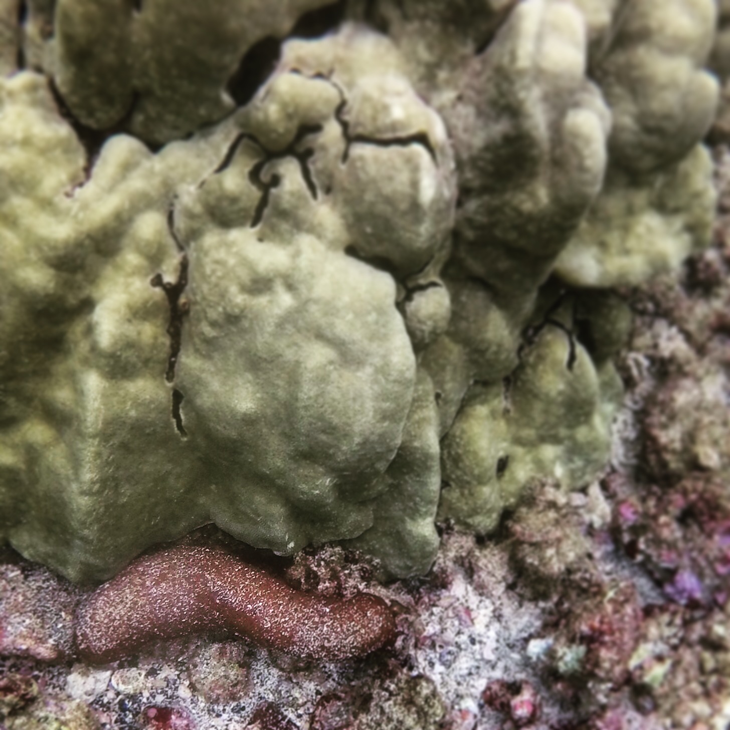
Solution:
{"label": "widest black gap, at top, right of the shaded upper-left coral lobe", "polygon": [[[304,13],[288,37],[317,38],[333,31],[345,18],[345,0]],[[239,107],[248,104],[271,76],[281,55],[283,39],[266,36],[252,45],[228,80],[226,91]]]}

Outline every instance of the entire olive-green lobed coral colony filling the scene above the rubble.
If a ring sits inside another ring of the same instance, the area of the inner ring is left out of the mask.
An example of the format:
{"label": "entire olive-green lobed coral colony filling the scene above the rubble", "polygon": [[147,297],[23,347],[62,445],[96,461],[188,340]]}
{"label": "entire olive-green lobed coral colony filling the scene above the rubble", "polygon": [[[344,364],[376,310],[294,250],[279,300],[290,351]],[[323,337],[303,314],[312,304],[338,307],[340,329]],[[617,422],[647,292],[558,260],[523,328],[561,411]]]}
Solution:
{"label": "entire olive-green lobed coral colony filling the scene above the rubble", "polygon": [[0,539],[73,580],[211,521],[425,572],[442,481],[601,472],[598,288],[709,242],[711,0],[353,0],[234,110],[323,4],[0,7]]}

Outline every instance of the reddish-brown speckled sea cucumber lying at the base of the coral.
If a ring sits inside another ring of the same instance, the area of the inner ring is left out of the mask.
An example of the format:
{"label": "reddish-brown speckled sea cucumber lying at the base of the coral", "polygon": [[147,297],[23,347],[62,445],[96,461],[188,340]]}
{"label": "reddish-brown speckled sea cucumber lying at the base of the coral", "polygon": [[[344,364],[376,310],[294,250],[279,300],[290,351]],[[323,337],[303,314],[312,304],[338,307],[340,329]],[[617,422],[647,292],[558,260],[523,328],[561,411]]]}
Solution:
{"label": "reddish-brown speckled sea cucumber lying at the base of the coral", "polygon": [[297,591],[223,550],[178,547],[139,558],[77,611],[76,645],[106,664],[155,639],[229,631],[269,649],[320,661],[364,656],[396,637],[383,599]]}

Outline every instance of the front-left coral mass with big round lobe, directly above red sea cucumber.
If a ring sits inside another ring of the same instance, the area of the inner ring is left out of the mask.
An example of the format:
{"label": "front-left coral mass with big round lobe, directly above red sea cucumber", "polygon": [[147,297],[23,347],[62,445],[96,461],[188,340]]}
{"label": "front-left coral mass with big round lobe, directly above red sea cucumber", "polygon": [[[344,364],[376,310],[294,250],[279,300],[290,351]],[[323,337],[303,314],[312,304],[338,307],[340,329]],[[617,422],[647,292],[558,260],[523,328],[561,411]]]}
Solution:
{"label": "front-left coral mass with big round lobe, directly above red sea cucumber", "polygon": [[[222,126],[157,155],[112,137],[86,174],[47,82],[4,82],[12,545],[88,580],[214,520],[280,553],[362,536],[396,575],[428,568],[437,419],[396,282],[442,254],[454,188],[397,64],[364,28],[292,42]],[[407,524],[367,534],[404,499]]]}

